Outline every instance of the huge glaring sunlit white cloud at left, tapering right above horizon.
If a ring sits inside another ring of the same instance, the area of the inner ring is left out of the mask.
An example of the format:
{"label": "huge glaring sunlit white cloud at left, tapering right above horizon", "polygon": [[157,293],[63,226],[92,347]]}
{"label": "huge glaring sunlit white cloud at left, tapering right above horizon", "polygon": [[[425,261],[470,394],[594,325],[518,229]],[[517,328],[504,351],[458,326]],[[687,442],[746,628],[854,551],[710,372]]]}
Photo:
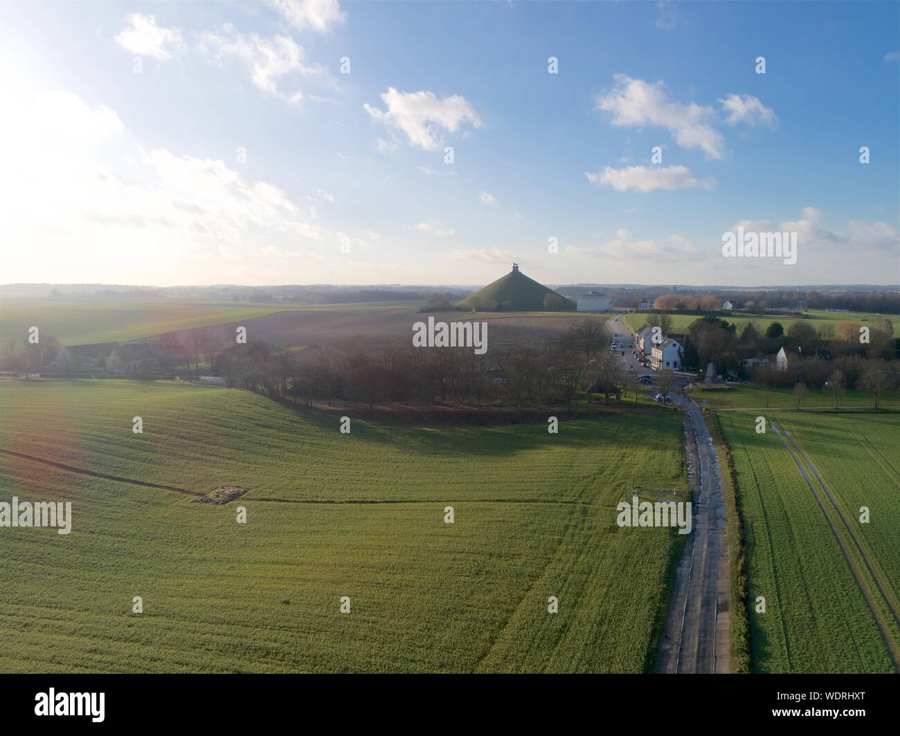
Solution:
{"label": "huge glaring sunlit white cloud at left, tapering right above horizon", "polygon": [[247,283],[249,271],[226,265],[329,236],[274,184],[220,160],[139,148],[108,107],[69,93],[4,99],[18,111],[0,119],[0,136],[16,141],[0,172],[4,238],[29,244],[4,261],[15,279],[164,284],[205,272]]}

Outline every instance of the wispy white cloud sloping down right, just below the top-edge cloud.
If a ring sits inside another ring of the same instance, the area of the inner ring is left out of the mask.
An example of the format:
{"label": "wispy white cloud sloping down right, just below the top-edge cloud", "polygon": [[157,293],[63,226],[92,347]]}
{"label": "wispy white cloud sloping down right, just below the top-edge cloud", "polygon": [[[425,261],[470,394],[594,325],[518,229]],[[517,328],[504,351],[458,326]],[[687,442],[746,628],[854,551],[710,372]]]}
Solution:
{"label": "wispy white cloud sloping down right, just below the top-edge cloud", "polygon": [[302,102],[303,93],[300,90],[283,92],[276,81],[278,77],[327,76],[324,67],[307,63],[303,47],[289,36],[271,39],[260,38],[256,33],[247,36],[236,31],[230,23],[223,26],[221,33],[204,31],[200,36],[199,49],[219,62],[222,58],[238,58],[247,65],[254,85],[293,104]]}

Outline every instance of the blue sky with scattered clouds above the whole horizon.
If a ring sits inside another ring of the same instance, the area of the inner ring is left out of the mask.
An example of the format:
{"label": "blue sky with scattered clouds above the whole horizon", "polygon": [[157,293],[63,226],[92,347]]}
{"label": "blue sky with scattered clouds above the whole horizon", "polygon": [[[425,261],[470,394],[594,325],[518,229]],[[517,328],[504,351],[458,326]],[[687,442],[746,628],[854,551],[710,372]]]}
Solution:
{"label": "blue sky with scattered clouds above the whole horizon", "polygon": [[900,283],[898,7],[4,4],[3,281]]}

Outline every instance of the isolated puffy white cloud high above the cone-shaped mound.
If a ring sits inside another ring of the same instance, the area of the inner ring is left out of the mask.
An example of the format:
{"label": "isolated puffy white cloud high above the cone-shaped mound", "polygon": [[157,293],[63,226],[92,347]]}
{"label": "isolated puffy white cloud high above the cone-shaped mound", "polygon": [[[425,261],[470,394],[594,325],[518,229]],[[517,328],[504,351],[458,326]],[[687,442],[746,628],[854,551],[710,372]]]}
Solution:
{"label": "isolated puffy white cloud high above the cone-shaped mound", "polygon": [[444,143],[442,130],[455,133],[465,121],[480,128],[481,119],[471,104],[459,94],[438,99],[433,92],[398,92],[393,87],[383,93],[387,111],[364,103],[365,111],[385,125],[402,130],[410,144],[438,150]]}

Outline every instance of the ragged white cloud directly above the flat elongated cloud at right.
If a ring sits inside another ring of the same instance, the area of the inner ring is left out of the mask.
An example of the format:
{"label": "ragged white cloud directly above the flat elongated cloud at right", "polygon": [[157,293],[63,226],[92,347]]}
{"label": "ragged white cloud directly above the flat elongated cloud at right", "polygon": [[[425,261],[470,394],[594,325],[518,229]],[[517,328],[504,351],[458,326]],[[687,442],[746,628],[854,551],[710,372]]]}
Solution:
{"label": "ragged white cloud directly above the flat elongated cloud at right", "polygon": [[594,108],[611,112],[613,125],[665,128],[681,148],[702,148],[710,158],[722,157],[722,136],[707,122],[713,114],[711,107],[672,101],[662,82],[651,85],[624,74],[614,78],[615,89],[600,95]]}

